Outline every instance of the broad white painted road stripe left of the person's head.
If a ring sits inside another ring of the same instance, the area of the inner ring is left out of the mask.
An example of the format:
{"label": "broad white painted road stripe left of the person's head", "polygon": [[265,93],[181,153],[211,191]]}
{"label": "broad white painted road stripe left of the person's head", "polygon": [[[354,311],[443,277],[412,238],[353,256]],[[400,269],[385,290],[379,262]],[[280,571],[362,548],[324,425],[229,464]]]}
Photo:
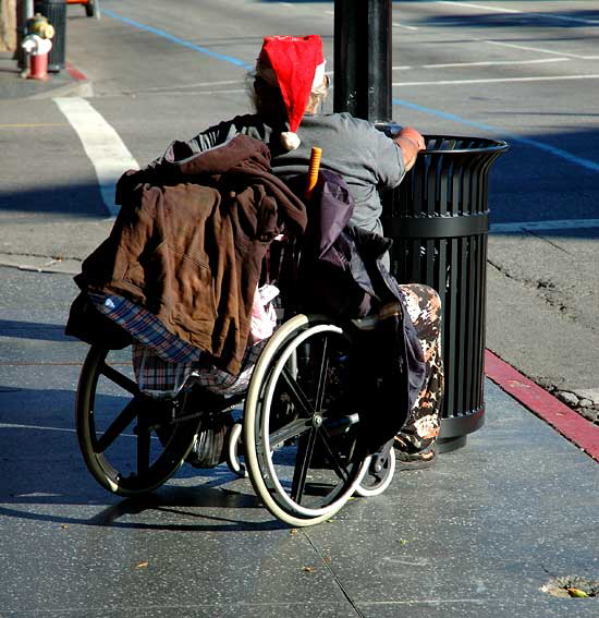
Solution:
{"label": "broad white painted road stripe left of the person's head", "polygon": [[88,101],[81,97],[59,97],[54,102],[80,136],[96,170],[102,201],[109,214],[115,215],[114,185],[123,172],[139,168],[137,161],[117,131]]}

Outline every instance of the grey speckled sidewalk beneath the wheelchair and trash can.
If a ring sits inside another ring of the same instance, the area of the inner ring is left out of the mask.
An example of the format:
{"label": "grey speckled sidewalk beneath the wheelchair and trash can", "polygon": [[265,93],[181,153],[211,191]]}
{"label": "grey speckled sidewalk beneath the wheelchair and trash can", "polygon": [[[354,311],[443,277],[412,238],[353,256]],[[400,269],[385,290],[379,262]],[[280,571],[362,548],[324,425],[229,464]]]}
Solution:
{"label": "grey speckled sidewalk beneath the wheelchair and trash can", "polygon": [[599,580],[597,462],[490,380],[465,448],[315,528],[273,521],[224,466],[120,499],[77,448],[72,278],[0,277],[2,618],[599,615],[541,590]]}

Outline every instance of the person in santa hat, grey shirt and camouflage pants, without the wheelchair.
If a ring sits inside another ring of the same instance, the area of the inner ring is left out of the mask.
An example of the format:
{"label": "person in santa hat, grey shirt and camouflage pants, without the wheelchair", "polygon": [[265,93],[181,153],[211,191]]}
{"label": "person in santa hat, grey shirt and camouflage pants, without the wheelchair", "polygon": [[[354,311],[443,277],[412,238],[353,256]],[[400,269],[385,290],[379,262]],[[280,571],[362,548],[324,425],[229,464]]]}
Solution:
{"label": "person in santa hat, grey shirt and camouflage pants, without the wheelchair", "polygon": [[[390,138],[349,113],[318,113],[329,89],[325,66],[320,37],[266,37],[249,76],[256,112],[222,121],[187,142],[173,142],[162,157],[133,178],[151,178],[167,161],[185,161],[235,135],[249,135],[268,145],[272,173],[290,182],[306,172],[310,149],[319,146],[320,169],[340,174],[354,201],[350,225],[382,235],[379,190],[400,184],[418,150],[425,149],[424,137],[406,126]],[[382,260],[389,267],[387,253]],[[426,378],[395,440],[400,466],[409,469],[432,462],[436,455],[443,393],[441,307],[429,287],[400,289],[426,363]]]}

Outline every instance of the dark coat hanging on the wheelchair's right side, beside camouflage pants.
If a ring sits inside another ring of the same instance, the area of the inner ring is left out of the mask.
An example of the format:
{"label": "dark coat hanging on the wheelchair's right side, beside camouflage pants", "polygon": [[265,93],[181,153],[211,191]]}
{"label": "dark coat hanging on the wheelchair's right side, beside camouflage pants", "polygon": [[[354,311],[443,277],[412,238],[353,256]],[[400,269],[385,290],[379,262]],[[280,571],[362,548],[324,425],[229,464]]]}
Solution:
{"label": "dark coat hanging on the wheelchair's right side, beside camouflage pants", "polygon": [[[425,359],[405,300],[382,257],[392,241],[349,226],[353,201],[343,179],[322,170],[308,204],[297,294],[304,311],[354,328],[353,398],[371,420],[371,452],[404,425],[425,379]],[[355,319],[377,315],[375,319]]]}

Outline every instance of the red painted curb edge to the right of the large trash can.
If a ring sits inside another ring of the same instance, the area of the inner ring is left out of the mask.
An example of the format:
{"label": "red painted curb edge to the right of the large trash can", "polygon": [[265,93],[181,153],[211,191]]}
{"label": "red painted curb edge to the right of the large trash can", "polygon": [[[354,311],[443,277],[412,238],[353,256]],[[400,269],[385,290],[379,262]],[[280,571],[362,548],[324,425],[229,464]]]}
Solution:
{"label": "red painted curb edge to the right of the large trash can", "polygon": [[502,390],[599,461],[599,426],[555,399],[490,350],[485,351],[485,373]]}

